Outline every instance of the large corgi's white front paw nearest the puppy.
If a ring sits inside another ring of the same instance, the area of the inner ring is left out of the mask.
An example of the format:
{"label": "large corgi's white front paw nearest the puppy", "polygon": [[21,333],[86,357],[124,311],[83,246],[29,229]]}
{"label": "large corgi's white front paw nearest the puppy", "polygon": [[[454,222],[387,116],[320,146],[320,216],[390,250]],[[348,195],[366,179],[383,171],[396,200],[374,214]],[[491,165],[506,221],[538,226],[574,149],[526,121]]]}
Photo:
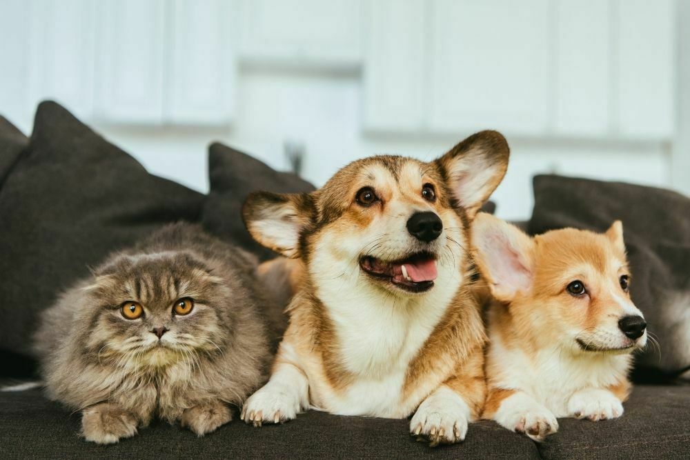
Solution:
{"label": "large corgi's white front paw nearest the puppy", "polygon": [[439,388],[424,399],[410,422],[410,432],[417,439],[427,439],[429,446],[450,444],[465,439],[470,408],[458,395]]}

